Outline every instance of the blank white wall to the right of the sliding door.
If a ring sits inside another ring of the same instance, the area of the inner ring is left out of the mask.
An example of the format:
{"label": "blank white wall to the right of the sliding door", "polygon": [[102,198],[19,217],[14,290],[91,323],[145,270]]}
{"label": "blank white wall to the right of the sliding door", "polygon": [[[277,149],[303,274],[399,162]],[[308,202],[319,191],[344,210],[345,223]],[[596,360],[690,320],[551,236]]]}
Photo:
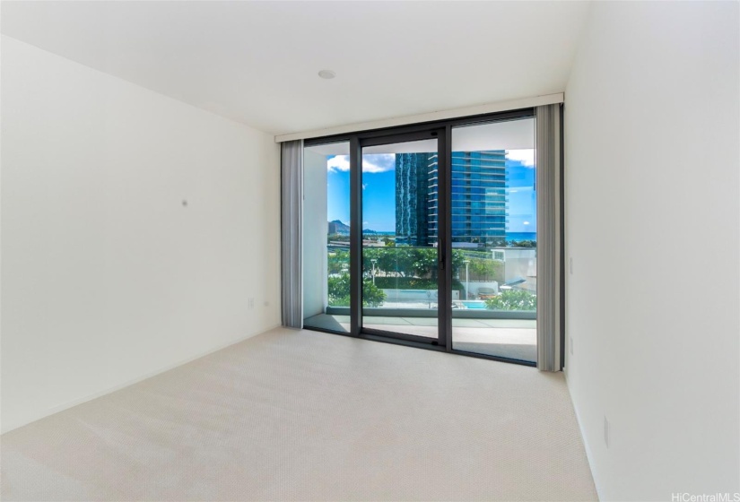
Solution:
{"label": "blank white wall to the right of the sliding door", "polygon": [[596,3],[566,89],[567,377],[604,500],[740,491],[738,26]]}

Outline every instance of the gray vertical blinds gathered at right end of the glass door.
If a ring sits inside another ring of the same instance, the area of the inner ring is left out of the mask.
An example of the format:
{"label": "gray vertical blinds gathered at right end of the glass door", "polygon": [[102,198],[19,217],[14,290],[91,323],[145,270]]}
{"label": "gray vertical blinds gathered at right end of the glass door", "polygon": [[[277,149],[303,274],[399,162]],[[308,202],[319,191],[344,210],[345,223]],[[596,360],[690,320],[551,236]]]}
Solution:
{"label": "gray vertical blinds gathered at right end of the glass door", "polygon": [[537,368],[561,361],[561,105],[535,108]]}

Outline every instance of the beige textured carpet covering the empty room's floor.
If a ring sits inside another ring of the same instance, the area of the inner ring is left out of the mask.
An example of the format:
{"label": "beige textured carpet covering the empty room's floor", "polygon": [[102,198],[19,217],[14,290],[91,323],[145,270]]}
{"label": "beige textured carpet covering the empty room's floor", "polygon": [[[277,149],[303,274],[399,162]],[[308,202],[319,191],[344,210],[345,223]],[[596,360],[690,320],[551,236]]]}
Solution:
{"label": "beige textured carpet covering the empty room's floor", "polygon": [[3,500],[595,500],[560,374],[277,329],[2,438]]}

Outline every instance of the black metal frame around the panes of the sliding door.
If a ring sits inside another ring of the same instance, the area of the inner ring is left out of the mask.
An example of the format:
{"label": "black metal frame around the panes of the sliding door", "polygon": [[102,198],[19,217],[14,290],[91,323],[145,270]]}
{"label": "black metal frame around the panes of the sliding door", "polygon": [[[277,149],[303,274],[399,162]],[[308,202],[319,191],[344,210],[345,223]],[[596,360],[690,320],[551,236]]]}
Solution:
{"label": "black metal frame around the panes of the sliding door", "polygon": [[[350,331],[349,333],[326,330],[306,326],[306,329],[323,331],[326,333],[342,334],[354,338],[372,340],[377,342],[394,343],[408,347],[416,347],[431,351],[442,351],[452,354],[464,355],[478,359],[492,359],[523,366],[535,367],[532,361],[509,359],[500,356],[478,354],[474,352],[459,351],[452,347],[452,267],[448,266],[448,258],[452,257],[451,224],[448,221],[448,208],[451,204],[451,161],[452,161],[452,128],[460,125],[478,125],[492,122],[506,122],[522,118],[535,117],[534,108],[522,108],[506,112],[485,114],[473,117],[461,117],[448,120],[426,122],[414,125],[401,125],[386,127],[367,131],[335,134],[320,138],[311,138],[303,142],[304,147],[316,146],[327,143],[350,143]],[[432,136],[432,133],[436,135]],[[362,328],[362,177],[360,169],[361,149],[364,146],[372,146],[388,143],[403,143],[414,141],[414,139],[438,140],[439,156],[439,223],[438,238],[438,276],[440,277],[438,307],[444,301],[444,308],[438,308],[439,339],[431,340],[422,336],[414,336],[404,333],[389,333],[380,330]],[[410,139],[409,139],[410,138]],[[443,169],[444,168],[444,169]]]}

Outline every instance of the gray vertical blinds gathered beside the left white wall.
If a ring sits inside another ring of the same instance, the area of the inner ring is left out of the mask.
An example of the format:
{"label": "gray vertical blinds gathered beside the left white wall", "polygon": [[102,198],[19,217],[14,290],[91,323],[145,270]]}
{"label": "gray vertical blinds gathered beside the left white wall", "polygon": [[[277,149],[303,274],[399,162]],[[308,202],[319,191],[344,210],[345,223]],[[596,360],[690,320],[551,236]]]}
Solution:
{"label": "gray vertical blinds gathered beside the left white wall", "polygon": [[281,281],[283,326],[303,327],[303,141],[282,143]]}

